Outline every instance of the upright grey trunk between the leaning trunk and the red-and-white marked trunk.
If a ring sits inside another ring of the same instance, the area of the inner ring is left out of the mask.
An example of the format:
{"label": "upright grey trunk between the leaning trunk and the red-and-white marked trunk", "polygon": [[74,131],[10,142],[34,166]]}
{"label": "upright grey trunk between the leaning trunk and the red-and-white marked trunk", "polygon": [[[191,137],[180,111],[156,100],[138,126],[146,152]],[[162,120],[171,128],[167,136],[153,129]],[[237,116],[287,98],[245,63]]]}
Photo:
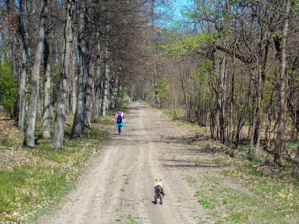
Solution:
{"label": "upright grey trunk between the leaning trunk and the red-and-white marked trunk", "polygon": [[50,136],[50,117],[51,117],[51,65],[49,57],[48,35],[45,36],[44,46],[44,71],[45,71],[45,98],[44,98],[44,116],[42,123],[42,137],[49,139]]}

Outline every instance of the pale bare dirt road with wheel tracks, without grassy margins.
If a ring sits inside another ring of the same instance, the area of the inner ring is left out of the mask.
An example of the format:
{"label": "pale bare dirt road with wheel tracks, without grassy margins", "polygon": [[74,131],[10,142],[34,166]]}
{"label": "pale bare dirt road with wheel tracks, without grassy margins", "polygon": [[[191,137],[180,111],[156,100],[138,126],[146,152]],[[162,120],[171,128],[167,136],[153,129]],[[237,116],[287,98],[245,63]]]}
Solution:
{"label": "pale bare dirt road with wheel tracks, without grassy margins", "polygon": [[[198,223],[206,210],[194,198],[189,176],[218,169],[194,164],[189,157],[206,155],[186,141],[164,115],[142,103],[131,104],[122,135],[112,135],[103,154],[70,192],[59,211],[37,223]],[[155,205],[153,182],[163,180],[164,205]],[[206,219],[205,223],[215,223]]]}

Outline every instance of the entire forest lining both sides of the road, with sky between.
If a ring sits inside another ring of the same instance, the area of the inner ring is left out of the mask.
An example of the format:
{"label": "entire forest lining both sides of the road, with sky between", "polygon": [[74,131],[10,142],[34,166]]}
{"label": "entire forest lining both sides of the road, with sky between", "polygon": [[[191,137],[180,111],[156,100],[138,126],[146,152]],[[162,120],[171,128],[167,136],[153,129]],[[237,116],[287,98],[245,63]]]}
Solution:
{"label": "entire forest lining both sides of the road, with sky between", "polygon": [[298,185],[299,1],[180,2],[1,0],[0,113],[22,144],[1,125],[0,151],[63,150],[136,96]]}

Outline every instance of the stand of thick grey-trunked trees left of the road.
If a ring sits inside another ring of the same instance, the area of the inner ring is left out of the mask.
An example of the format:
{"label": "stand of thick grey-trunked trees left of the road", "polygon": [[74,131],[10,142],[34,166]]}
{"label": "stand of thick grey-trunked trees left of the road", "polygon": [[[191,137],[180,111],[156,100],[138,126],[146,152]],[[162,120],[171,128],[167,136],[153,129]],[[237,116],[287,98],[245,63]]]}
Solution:
{"label": "stand of thick grey-trunked trees left of the road", "polygon": [[[2,1],[1,105],[34,147],[36,117],[42,137],[63,147],[65,116],[71,138],[124,96],[143,40],[153,30],[155,2]],[[54,112],[55,111],[55,112]],[[28,118],[26,119],[26,116]]]}

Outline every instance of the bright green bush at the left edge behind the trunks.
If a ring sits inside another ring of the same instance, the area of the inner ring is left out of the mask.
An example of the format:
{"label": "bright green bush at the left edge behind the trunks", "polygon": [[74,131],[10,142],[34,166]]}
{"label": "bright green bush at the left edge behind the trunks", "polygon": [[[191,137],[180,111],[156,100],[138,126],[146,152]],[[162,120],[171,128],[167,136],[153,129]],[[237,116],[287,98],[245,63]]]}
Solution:
{"label": "bright green bush at the left edge behind the trunks", "polygon": [[14,108],[17,103],[17,80],[10,75],[2,74],[0,78],[0,105]]}

